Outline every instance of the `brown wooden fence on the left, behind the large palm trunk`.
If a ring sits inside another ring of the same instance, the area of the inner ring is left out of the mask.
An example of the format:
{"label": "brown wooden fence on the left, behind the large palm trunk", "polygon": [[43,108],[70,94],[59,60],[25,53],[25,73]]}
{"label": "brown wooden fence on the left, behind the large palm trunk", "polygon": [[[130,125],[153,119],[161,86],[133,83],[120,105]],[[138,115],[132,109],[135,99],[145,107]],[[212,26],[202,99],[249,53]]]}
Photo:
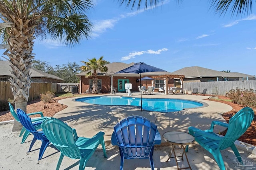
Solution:
{"label": "brown wooden fence on the left, behind the large palm trunk", "polygon": [[[48,90],[56,94],[57,83],[31,83],[28,100],[39,99],[40,94],[43,94]],[[13,99],[10,82],[0,82],[0,100],[8,100],[9,98]]]}

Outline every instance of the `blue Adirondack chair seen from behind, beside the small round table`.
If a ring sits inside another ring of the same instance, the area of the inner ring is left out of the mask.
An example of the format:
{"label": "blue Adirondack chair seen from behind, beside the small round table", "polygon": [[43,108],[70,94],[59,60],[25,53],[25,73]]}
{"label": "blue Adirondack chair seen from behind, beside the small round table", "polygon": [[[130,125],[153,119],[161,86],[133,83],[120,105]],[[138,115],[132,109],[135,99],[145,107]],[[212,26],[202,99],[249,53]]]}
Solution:
{"label": "blue Adirondack chair seen from behind, beside the small round table", "polygon": [[118,145],[121,155],[120,170],[124,159],[149,158],[154,170],[154,145],[161,144],[161,135],[157,126],[149,119],[141,116],[130,116],[114,126],[111,137],[112,145]]}

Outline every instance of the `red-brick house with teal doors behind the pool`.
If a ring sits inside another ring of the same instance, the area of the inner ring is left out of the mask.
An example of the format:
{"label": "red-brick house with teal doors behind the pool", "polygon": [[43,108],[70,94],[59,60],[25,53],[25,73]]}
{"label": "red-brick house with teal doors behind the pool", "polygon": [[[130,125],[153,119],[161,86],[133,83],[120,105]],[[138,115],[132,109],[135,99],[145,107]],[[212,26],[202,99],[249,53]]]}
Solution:
{"label": "red-brick house with teal doors behind the pool", "polygon": [[[126,64],[126,63],[109,63],[106,64],[108,67],[107,73],[98,72],[98,88],[100,89],[99,93],[110,93],[111,89],[116,88],[117,92],[126,92],[125,84],[131,83],[132,90],[131,91],[139,91],[138,86],[140,86],[140,74],[114,74],[124,68],[132,66],[134,63]],[[92,89],[92,77],[86,78],[86,72],[81,72],[76,74],[80,77],[80,86],[79,92],[86,93],[86,90]],[[141,77],[143,76],[160,76],[160,75],[172,75],[174,78],[182,77],[181,75],[173,75],[171,72],[145,72],[141,73]],[[184,77],[184,76],[183,76]],[[168,78],[168,87],[174,86],[174,78]],[[159,87],[164,87],[164,79],[162,80],[144,80],[141,82],[142,86],[155,86],[155,90],[157,91]]]}

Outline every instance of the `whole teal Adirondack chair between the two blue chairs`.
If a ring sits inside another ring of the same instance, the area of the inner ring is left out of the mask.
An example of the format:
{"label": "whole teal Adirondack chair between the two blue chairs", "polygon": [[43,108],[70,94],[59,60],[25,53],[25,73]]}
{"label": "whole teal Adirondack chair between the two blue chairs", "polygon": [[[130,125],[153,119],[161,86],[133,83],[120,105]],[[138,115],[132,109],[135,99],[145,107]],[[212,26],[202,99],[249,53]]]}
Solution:
{"label": "whole teal Adirondack chair between the two blue chairs", "polygon": [[61,154],[56,170],[59,170],[64,155],[72,159],[80,159],[79,170],[84,170],[88,159],[100,144],[104,157],[107,157],[104,132],[99,132],[92,138],[78,137],[76,129],[53,117],[43,121],[42,129],[50,142],[60,150]]}

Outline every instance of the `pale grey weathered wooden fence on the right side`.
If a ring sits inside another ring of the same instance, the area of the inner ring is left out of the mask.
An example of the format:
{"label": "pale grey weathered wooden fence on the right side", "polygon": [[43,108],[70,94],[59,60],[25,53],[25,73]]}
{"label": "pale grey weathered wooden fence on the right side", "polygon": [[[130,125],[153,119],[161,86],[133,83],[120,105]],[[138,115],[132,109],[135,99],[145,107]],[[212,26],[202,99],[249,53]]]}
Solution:
{"label": "pale grey weathered wooden fence on the right side", "polygon": [[193,88],[198,88],[198,92],[202,92],[204,88],[207,88],[206,94],[216,93],[217,95],[225,96],[231,89],[236,88],[256,90],[256,80],[183,83],[183,89],[192,91]]}

